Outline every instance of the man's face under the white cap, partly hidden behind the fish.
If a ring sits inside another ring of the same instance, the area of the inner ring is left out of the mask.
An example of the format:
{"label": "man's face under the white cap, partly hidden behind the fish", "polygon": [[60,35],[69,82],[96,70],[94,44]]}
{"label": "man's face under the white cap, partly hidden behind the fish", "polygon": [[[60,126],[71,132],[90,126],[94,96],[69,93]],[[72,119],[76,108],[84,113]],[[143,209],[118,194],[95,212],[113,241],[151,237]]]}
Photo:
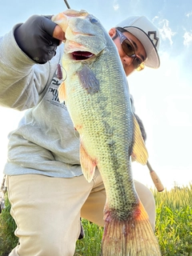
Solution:
{"label": "man's face under the white cap, partly hidden behind the fish", "polygon": [[[142,46],[142,43],[138,40],[138,38],[135,38],[133,34],[130,34],[129,32],[121,32],[130,40],[132,45],[134,46],[135,54],[142,59],[142,61],[146,60],[146,50]],[[115,45],[118,48],[118,54],[122,61],[122,66],[125,70],[126,76],[131,74],[134,71],[134,64],[133,64],[133,57],[129,57],[126,55],[125,51],[122,50],[122,44],[120,42],[120,38],[116,37],[116,29],[113,28],[109,31],[110,37],[114,40]]]}

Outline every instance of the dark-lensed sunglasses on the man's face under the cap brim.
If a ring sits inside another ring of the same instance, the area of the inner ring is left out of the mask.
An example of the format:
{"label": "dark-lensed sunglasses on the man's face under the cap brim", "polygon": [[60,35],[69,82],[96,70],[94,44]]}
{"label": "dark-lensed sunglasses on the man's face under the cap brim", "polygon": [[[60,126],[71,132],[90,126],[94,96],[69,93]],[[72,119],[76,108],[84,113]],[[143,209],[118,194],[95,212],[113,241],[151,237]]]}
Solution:
{"label": "dark-lensed sunglasses on the man's face under the cap brim", "polygon": [[132,42],[124,34],[122,34],[117,28],[118,32],[118,38],[120,39],[121,45],[122,45],[122,50],[125,52],[125,54],[131,58],[133,58],[133,65],[135,70],[143,70],[145,67],[145,64],[141,58],[139,58],[135,54],[134,46]]}

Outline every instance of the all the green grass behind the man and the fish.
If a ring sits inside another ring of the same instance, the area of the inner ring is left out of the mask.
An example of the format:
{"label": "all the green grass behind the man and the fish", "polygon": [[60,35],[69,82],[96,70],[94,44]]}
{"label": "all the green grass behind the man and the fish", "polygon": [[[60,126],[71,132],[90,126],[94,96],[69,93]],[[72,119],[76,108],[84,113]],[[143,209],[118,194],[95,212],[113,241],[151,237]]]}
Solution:
{"label": "all the green grass behind the man and the fish", "polygon": [[[157,206],[155,234],[162,256],[192,256],[192,185],[175,186],[170,191],[153,191]],[[6,256],[17,244],[9,202],[0,215],[0,256]],[[75,256],[99,256],[102,228],[82,219],[85,238],[78,240]]]}

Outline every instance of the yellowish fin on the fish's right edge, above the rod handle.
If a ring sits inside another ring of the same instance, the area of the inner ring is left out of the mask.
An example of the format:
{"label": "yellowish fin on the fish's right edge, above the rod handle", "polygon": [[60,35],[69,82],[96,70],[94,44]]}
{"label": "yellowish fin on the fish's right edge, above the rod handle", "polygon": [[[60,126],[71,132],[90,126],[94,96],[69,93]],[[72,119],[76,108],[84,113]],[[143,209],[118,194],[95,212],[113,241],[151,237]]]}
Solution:
{"label": "yellowish fin on the fish's right edge, above the rod handle", "polygon": [[148,152],[146,150],[145,142],[142,138],[142,132],[138,125],[138,121],[134,118],[134,145],[132,147],[131,157],[134,158],[135,161],[141,163],[142,165],[146,165],[148,159]]}

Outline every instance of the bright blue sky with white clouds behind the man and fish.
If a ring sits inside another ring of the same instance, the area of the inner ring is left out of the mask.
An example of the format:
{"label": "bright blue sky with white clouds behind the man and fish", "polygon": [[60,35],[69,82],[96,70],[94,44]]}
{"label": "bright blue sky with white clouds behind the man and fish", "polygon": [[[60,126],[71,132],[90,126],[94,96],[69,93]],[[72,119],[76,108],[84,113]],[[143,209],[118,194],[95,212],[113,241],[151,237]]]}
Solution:
{"label": "bright blue sky with white clouds behind the man and fish", "polygon": [[[0,0],[2,1],[2,0]],[[128,78],[136,113],[146,127],[149,162],[169,189],[192,182],[192,4],[191,0],[68,0],[75,10],[87,10],[106,27],[130,15],[145,15],[161,33],[158,70],[145,69]],[[62,0],[6,0],[0,8],[0,34],[32,14],[58,14],[66,9]],[[22,116],[0,107],[1,162],[6,162],[6,136]],[[1,171],[0,170],[0,177]],[[133,164],[134,178],[153,187],[146,166]]]}

